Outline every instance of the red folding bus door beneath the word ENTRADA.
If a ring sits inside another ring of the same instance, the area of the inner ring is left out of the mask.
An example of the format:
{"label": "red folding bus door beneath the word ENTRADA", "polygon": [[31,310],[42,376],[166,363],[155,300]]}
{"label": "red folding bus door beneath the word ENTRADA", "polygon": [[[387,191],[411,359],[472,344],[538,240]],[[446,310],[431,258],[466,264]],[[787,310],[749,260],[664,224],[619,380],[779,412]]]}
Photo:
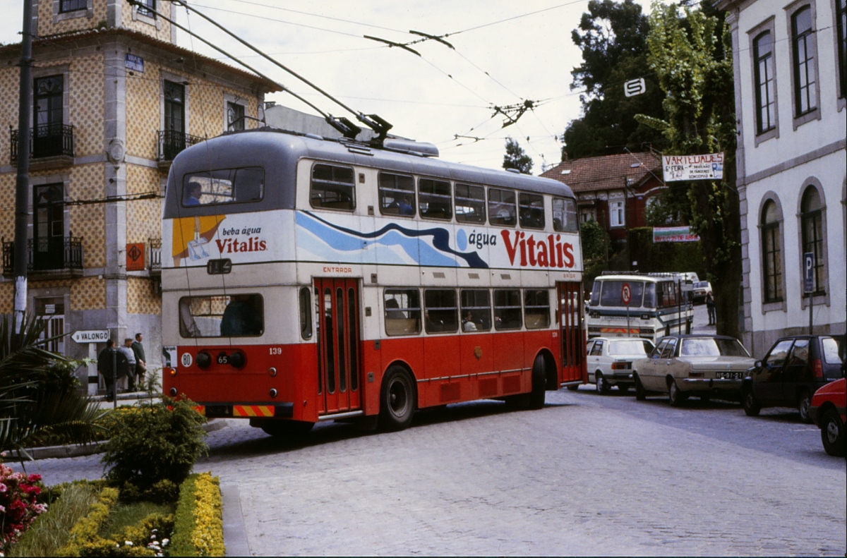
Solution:
{"label": "red folding bus door beneath the word ENTRADA", "polygon": [[318,299],[318,414],[362,407],[357,279],[315,279]]}

